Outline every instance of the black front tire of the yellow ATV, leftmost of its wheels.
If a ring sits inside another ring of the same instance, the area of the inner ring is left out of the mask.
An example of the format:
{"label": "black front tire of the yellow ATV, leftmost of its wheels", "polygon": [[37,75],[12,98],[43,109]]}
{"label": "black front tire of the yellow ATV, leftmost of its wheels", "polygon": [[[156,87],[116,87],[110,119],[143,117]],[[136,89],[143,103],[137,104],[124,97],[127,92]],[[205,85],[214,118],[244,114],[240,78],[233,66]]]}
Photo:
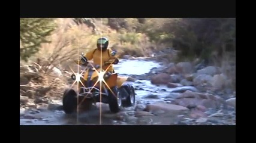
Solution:
{"label": "black front tire of the yellow ATV, leftmost of its wheels", "polygon": [[77,94],[74,89],[67,89],[62,98],[63,110],[66,114],[71,114],[77,107]]}

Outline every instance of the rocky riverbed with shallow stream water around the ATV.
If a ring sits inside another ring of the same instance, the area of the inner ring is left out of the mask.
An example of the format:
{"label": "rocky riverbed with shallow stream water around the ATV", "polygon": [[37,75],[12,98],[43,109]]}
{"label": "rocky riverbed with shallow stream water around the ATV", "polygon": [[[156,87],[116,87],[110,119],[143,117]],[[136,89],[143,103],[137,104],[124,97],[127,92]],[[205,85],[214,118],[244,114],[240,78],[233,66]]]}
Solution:
{"label": "rocky riverbed with shallow stream water around the ATV", "polygon": [[[107,104],[97,103],[90,111],[79,109],[67,115],[61,97],[68,84],[47,91],[21,83],[20,125],[236,125],[236,92],[228,88],[230,80],[219,67],[195,70],[186,62],[129,58],[115,69],[120,76],[130,77],[136,93],[134,107],[113,114]],[[58,78],[64,77],[61,71]]]}

